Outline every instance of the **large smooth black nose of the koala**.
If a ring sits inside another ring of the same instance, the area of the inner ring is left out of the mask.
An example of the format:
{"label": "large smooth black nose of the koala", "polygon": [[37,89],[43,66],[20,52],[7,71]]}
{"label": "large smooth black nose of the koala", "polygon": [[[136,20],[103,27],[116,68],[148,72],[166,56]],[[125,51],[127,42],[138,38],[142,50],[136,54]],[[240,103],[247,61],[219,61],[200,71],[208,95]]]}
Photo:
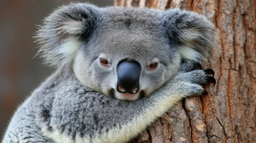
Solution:
{"label": "large smooth black nose of the koala", "polygon": [[117,65],[116,90],[135,94],[140,88],[141,65],[136,61],[121,61]]}

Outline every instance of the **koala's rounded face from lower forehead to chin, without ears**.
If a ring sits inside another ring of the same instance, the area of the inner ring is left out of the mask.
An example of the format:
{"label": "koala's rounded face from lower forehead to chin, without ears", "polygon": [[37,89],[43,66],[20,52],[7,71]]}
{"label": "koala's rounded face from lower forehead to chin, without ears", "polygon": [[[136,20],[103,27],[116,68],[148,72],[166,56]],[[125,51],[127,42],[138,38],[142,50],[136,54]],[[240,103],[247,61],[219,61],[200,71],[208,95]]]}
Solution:
{"label": "koala's rounded face from lower forehead to chin, without ears", "polygon": [[180,55],[164,37],[115,29],[91,36],[74,60],[74,72],[84,85],[109,96],[148,96],[180,67]]}

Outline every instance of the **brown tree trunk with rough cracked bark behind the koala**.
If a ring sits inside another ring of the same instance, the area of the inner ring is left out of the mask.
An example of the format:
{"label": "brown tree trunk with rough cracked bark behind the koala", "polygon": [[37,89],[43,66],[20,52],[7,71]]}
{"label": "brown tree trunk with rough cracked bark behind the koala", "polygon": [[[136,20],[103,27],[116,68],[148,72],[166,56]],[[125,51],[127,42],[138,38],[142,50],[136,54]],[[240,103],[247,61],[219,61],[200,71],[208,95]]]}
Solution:
{"label": "brown tree trunk with rough cracked bark behind the koala", "polygon": [[196,11],[221,35],[213,37],[216,85],[176,104],[133,142],[256,142],[256,2],[115,0],[115,6]]}

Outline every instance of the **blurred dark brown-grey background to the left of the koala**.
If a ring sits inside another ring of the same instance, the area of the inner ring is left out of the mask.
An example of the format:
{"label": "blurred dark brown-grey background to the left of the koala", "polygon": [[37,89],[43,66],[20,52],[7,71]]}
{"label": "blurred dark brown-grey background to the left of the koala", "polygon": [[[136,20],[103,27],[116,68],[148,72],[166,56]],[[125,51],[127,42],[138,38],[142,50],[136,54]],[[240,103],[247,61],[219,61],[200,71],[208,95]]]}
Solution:
{"label": "blurred dark brown-grey background to the left of the koala", "polygon": [[[0,0],[0,141],[18,105],[55,70],[33,58],[36,25],[54,8],[70,2],[76,0]],[[79,2],[113,5],[113,0]]]}

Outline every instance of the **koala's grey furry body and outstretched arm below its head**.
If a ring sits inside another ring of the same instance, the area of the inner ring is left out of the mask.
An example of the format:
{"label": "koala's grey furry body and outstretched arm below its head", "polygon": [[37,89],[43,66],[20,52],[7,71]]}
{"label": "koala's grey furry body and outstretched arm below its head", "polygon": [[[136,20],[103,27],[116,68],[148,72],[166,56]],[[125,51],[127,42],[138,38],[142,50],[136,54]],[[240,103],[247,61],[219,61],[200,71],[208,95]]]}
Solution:
{"label": "koala's grey furry body and outstretched arm below its head", "polygon": [[[207,74],[203,70],[180,73],[148,98],[128,102],[109,98],[83,86],[67,64],[58,69],[19,107],[3,142],[15,139],[24,142],[51,142],[43,136],[40,129],[49,133],[60,131],[73,141],[81,137],[89,142],[127,142],[165,113],[174,101],[202,94],[200,83],[207,83]],[[173,102],[166,104],[164,101]],[[162,109],[162,106],[166,108]],[[136,126],[142,124],[142,121],[136,119],[145,110],[152,110],[152,114],[149,116],[150,122],[146,122],[144,128],[113,133],[112,130],[129,128],[128,123]],[[114,134],[115,138],[109,138],[111,135],[104,133]],[[60,139],[55,141],[62,142]]]}

